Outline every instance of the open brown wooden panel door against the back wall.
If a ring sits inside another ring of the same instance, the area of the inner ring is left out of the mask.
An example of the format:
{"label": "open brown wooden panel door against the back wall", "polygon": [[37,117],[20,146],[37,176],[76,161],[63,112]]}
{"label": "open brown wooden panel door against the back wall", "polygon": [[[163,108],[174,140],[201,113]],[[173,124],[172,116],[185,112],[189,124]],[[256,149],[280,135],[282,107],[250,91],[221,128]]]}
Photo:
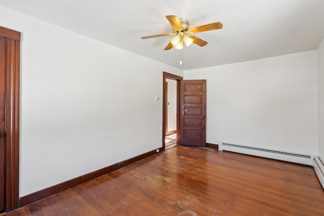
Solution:
{"label": "open brown wooden panel door against the back wall", "polygon": [[206,146],[206,80],[182,80],[180,144]]}

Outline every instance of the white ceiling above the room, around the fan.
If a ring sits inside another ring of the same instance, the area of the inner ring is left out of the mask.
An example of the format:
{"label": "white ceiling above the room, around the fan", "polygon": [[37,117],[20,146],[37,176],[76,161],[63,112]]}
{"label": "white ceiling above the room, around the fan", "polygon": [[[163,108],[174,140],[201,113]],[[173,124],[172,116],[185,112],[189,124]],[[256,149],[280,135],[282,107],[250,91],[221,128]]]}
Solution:
{"label": "white ceiling above the room, around the fan", "polygon": [[[184,70],[316,50],[324,38],[323,0],[0,0],[0,6]],[[205,47],[165,51],[166,15],[223,28],[194,35]],[[1,21],[0,21],[1,25]],[[19,29],[17,29],[19,30]],[[182,56],[184,55],[182,51]]]}

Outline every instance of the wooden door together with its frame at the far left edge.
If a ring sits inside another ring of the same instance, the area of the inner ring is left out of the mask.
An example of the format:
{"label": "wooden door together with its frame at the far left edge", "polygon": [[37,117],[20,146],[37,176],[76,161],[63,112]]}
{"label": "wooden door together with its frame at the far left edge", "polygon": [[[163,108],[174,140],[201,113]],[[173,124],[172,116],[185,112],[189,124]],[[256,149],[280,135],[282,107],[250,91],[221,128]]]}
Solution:
{"label": "wooden door together with its frame at the far left edge", "polygon": [[19,207],[20,35],[0,26],[0,214]]}

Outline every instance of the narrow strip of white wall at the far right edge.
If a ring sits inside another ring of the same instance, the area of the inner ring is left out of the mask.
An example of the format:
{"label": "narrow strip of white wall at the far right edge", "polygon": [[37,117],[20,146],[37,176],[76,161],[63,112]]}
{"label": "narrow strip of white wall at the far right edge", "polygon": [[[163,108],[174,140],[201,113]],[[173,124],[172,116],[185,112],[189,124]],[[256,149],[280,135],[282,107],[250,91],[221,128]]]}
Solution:
{"label": "narrow strip of white wall at the far right edge", "polygon": [[324,39],[317,49],[318,156],[324,162]]}

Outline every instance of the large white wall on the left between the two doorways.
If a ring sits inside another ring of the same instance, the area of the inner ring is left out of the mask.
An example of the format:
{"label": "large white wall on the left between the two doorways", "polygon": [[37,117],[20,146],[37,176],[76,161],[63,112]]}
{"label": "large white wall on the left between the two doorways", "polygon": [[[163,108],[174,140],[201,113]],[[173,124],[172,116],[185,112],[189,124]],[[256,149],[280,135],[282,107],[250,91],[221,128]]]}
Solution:
{"label": "large white wall on the left between the two doorways", "polygon": [[2,7],[0,25],[22,32],[20,196],[162,146],[155,96],[182,70]]}

